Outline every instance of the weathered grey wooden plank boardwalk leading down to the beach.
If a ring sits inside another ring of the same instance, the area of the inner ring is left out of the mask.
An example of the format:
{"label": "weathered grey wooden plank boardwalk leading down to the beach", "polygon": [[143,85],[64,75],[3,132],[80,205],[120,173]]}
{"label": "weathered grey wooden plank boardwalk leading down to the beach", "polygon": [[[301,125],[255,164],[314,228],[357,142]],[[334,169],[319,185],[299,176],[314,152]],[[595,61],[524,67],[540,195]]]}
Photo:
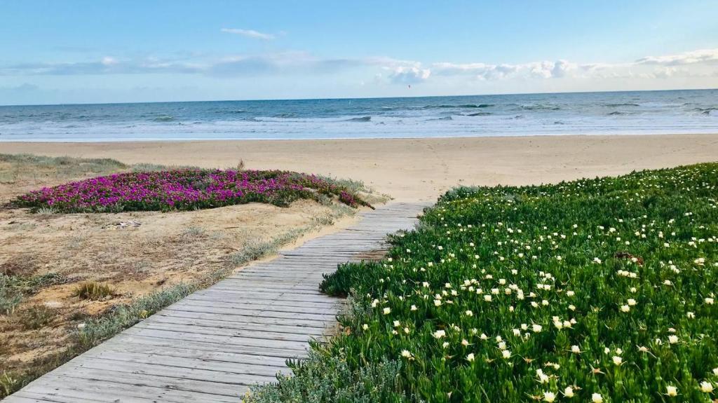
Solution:
{"label": "weathered grey wooden plank boardwalk leading down to the beach", "polygon": [[3,400],[29,402],[240,402],[271,382],[309,339],[335,326],[342,300],[317,289],[322,273],[386,247],[423,205],[394,203],[335,234],[281,252],[193,293]]}

